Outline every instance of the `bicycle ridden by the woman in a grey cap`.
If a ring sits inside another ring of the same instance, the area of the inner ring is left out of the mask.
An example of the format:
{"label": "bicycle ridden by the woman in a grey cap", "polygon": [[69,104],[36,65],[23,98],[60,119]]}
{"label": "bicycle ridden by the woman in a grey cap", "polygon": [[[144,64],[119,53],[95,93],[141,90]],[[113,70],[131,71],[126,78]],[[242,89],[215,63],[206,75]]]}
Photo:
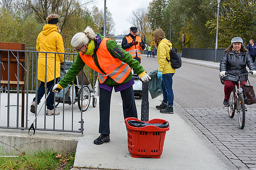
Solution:
{"label": "bicycle ridden by the woman in a grey cap", "polygon": [[[252,73],[249,71],[248,73]],[[244,105],[244,93],[243,93],[243,86],[244,84],[241,83],[243,80],[243,76],[247,76],[248,73],[245,74],[234,74],[231,72],[226,72],[226,76],[233,75],[238,76],[237,85],[234,83],[234,89],[230,93],[230,97],[228,100],[228,116],[233,118],[235,112],[237,111],[238,123],[239,128],[244,129],[245,125],[245,105]],[[237,87],[236,87],[237,86]]]}

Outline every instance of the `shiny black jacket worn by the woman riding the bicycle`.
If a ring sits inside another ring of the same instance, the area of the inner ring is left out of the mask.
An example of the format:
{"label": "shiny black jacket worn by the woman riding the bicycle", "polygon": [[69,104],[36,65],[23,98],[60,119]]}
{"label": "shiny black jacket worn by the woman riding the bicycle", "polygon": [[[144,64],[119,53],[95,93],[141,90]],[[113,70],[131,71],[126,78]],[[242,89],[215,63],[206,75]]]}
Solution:
{"label": "shiny black jacket worn by the woman riding the bicycle", "polygon": [[[219,71],[227,71],[234,74],[243,74],[247,73],[246,66],[250,70],[256,70],[252,58],[248,52],[241,52],[236,54],[235,51],[230,51],[228,54],[225,52],[222,56],[222,59],[219,64]],[[231,80],[237,81],[238,76],[225,76],[222,78],[223,81]],[[246,81],[246,77],[243,77],[243,81]]]}

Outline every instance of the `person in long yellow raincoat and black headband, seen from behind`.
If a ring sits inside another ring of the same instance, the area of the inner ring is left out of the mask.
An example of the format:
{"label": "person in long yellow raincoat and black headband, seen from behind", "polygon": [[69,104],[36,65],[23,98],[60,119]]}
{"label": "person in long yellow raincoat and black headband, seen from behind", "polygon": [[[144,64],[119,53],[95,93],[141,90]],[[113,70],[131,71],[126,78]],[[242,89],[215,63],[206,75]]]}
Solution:
{"label": "person in long yellow raincoat and black headband, seen from behind", "polygon": [[[57,14],[51,14],[47,17],[48,24],[45,24],[43,31],[37,36],[37,51],[43,52],[59,52],[64,53],[64,43],[59,29],[59,19]],[[45,65],[45,59],[47,59],[47,64]],[[55,66],[56,59],[56,66]],[[51,87],[55,84],[54,77],[56,77],[56,82],[58,77],[61,76],[61,62],[64,62],[64,54],[53,53],[39,53],[38,55],[38,66],[37,66],[37,79],[41,81],[39,88],[37,89],[37,102],[36,97],[30,106],[30,112],[35,113],[36,104],[39,104],[41,98],[45,94],[45,82],[47,86],[47,93],[50,93],[46,100],[46,115],[50,116],[54,114],[53,104],[54,104],[54,93],[50,91]],[[45,67],[47,67],[47,72],[45,73]],[[56,68],[56,72],[55,72]],[[46,74],[46,75],[45,75]],[[45,79],[46,77],[46,79]],[[55,110],[55,115],[60,114],[59,111]]]}

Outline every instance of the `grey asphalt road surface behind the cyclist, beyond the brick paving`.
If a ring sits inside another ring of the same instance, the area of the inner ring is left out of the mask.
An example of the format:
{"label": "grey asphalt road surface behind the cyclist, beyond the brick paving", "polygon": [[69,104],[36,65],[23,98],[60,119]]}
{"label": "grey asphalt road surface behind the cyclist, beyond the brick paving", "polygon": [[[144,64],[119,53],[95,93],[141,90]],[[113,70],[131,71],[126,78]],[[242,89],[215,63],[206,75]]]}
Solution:
{"label": "grey asphalt road surface behind the cyclist, beyond the brick paving", "polygon": [[[158,68],[157,58],[142,56],[142,66],[149,73]],[[256,78],[249,81],[256,89]],[[174,100],[185,109],[223,107],[224,91],[217,69],[183,62],[173,77],[173,90]]]}

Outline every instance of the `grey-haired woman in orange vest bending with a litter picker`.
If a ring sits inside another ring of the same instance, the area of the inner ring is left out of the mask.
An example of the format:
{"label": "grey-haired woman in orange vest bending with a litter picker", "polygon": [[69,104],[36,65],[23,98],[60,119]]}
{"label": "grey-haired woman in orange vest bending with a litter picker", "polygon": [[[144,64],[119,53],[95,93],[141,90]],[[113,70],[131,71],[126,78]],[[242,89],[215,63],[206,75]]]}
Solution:
{"label": "grey-haired woman in orange vest bending with a litter picker", "polygon": [[110,142],[110,100],[113,88],[115,92],[121,94],[124,118],[138,118],[131,68],[142,81],[149,81],[151,78],[145,73],[139,62],[118,46],[114,40],[104,38],[90,27],[87,27],[84,32],[74,35],[71,45],[79,52],[77,59],[63,79],[54,85],[53,91],[59,92],[60,89],[69,85],[85,64],[97,71],[99,73],[99,133],[101,135],[93,143],[100,145]]}

